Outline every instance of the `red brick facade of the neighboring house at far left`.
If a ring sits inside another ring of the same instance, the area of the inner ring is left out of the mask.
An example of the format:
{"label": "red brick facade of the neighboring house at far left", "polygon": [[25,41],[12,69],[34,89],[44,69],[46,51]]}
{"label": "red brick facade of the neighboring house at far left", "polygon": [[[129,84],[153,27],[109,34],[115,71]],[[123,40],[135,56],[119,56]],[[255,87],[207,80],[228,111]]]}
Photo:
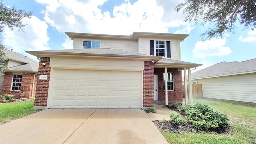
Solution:
{"label": "red brick facade of the neighboring house at far left", "polygon": [[[20,94],[19,94],[20,91],[11,90],[12,75],[13,75],[12,72],[6,72],[4,74],[4,83],[2,86],[2,93],[10,93],[11,92],[12,94],[14,94],[15,98],[20,98]],[[26,92],[26,94],[23,98],[32,97],[33,79],[34,79],[33,73],[23,73],[22,74],[22,81],[21,81],[20,89],[24,88],[24,92]],[[34,92],[35,92],[35,87],[36,87],[36,84],[34,84]]]}

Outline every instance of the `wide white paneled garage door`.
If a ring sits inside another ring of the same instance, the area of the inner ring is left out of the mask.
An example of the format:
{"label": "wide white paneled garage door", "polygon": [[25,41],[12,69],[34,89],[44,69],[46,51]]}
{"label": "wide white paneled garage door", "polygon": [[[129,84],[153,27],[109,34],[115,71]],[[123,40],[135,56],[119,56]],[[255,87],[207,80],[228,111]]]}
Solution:
{"label": "wide white paneled garage door", "polygon": [[142,74],[54,69],[50,96],[50,108],[142,108]]}

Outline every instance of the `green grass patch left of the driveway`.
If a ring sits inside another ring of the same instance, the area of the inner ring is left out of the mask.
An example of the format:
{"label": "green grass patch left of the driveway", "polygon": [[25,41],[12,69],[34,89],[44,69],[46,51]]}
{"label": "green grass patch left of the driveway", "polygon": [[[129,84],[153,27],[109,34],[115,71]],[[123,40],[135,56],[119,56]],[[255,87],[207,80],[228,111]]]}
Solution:
{"label": "green grass patch left of the driveway", "polygon": [[33,106],[34,100],[0,103],[0,122],[6,123],[10,120],[33,114],[36,112]]}

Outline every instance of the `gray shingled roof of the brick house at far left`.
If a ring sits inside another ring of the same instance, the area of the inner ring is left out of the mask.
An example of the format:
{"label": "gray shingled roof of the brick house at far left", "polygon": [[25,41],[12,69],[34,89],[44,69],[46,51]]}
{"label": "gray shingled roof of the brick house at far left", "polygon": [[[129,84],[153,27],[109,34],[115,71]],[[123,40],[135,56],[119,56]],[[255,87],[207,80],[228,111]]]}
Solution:
{"label": "gray shingled roof of the brick house at far left", "polygon": [[4,49],[4,52],[9,60],[15,60],[23,63],[18,66],[8,67],[7,72],[38,72],[39,62],[10,50]]}

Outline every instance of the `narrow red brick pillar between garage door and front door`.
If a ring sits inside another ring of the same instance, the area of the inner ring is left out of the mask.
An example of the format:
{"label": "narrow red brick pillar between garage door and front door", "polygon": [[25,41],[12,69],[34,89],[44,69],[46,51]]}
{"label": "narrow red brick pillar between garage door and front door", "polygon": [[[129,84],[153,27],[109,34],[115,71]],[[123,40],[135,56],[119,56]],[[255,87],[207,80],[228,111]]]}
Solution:
{"label": "narrow red brick pillar between garage door and front door", "polygon": [[154,64],[144,62],[143,70],[143,107],[154,106]]}

